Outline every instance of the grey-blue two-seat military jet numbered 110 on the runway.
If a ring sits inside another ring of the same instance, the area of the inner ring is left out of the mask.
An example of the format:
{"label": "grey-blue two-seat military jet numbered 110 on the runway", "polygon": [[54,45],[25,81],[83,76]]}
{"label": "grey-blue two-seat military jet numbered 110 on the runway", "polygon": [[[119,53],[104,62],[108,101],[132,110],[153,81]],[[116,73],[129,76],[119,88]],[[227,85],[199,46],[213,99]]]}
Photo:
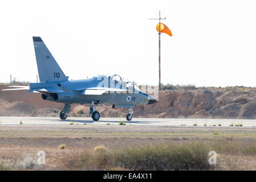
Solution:
{"label": "grey-blue two-seat military jet numbered 110 on the runway", "polygon": [[33,37],[39,83],[29,86],[10,86],[13,89],[29,90],[41,93],[43,100],[62,102],[64,109],[60,111],[60,119],[66,119],[71,104],[91,104],[90,116],[98,121],[100,113],[95,110],[99,104],[112,105],[112,108],[128,107],[127,120],[131,121],[133,107],[136,105],[154,104],[157,100],[142,93],[135,84],[125,81],[119,75],[97,76],[85,80],[68,80],[58,63],[40,37]]}

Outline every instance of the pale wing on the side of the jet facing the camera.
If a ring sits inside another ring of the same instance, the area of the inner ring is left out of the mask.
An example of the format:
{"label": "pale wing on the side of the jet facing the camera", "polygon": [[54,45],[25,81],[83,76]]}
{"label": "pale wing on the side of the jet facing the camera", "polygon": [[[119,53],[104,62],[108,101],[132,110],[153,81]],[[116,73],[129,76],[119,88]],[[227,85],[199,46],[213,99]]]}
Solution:
{"label": "pale wing on the side of the jet facing the camera", "polygon": [[80,93],[81,95],[102,95],[105,92],[127,92],[131,90],[125,90],[125,89],[116,89],[116,88],[105,88],[105,87],[92,87],[87,88]]}

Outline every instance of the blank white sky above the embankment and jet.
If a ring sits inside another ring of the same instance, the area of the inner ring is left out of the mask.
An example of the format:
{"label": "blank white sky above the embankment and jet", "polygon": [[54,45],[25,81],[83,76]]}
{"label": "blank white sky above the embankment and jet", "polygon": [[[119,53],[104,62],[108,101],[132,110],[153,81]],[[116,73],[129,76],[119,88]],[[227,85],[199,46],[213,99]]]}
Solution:
{"label": "blank white sky above the embankment and jet", "polygon": [[0,82],[36,82],[32,36],[72,80],[118,74],[138,84],[256,86],[256,1],[1,1]]}

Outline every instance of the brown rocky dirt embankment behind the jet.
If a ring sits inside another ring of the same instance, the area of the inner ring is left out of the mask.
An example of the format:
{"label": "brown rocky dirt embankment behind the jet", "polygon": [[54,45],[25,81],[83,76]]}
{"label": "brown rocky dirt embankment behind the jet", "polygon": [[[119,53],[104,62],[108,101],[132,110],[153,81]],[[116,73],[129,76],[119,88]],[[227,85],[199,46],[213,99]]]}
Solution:
{"label": "brown rocky dirt embankment behind the jet", "polygon": [[[5,88],[0,86],[0,89]],[[256,118],[256,89],[194,89],[161,91],[153,105],[136,106],[134,117],[149,118]],[[101,117],[124,117],[127,108],[96,107]],[[0,92],[0,115],[58,117],[63,104],[44,101],[27,90]],[[73,104],[70,116],[88,117],[88,105]]]}

